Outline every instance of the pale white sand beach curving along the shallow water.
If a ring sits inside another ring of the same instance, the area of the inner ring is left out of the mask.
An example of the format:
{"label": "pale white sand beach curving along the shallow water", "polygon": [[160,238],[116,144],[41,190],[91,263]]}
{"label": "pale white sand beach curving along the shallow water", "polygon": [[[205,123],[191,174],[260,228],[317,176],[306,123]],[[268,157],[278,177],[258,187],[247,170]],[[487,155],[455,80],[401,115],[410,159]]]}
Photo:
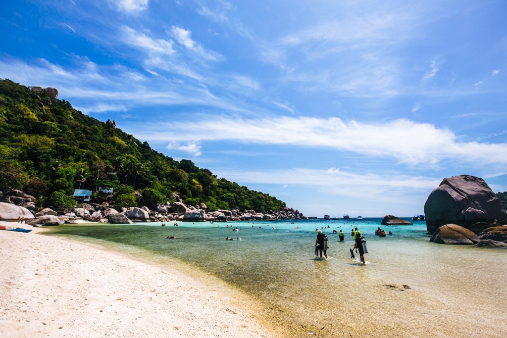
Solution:
{"label": "pale white sand beach curving along the shallow water", "polygon": [[3,338],[275,334],[179,272],[22,227],[33,231],[0,231]]}

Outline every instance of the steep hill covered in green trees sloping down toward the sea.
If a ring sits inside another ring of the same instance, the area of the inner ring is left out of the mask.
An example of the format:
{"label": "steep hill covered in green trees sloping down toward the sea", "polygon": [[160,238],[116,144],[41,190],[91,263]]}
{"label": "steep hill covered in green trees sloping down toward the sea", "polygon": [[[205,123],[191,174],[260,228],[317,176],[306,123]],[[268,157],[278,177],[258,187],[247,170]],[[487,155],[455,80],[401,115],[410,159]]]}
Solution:
{"label": "steep hill covered in green trees sloping down toward the sea", "polygon": [[[43,206],[74,189],[113,188],[116,206],[204,202],[216,209],[273,212],[285,203],[217,178],[190,160],[175,161],[147,142],[74,109],[51,90],[38,91],[0,79],[0,191],[20,189]],[[138,193],[134,193],[137,191]],[[142,196],[140,200],[139,196]],[[49,198],[49,200],[48,200]]]}

